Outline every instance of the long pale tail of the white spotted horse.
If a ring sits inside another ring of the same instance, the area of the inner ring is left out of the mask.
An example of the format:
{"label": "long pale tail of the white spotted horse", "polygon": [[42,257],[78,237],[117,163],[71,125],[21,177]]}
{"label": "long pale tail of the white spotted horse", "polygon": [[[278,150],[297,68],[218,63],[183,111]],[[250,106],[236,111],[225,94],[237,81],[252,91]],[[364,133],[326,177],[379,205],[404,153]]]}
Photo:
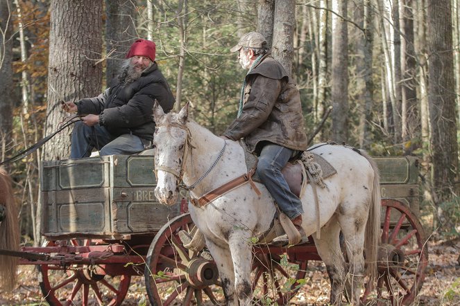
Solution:
{"label": "long pale tail of the white spotted horse", "polygon": [[366,235],[364,238],[364,249],[366,250],[366,274],[371,279],[377,277],[377,255],[380,245],[380,174],[377,163],[366,152],[361,151],[366,157],[374,172],[372,199],[370,201],[368,220],[366,224]]}

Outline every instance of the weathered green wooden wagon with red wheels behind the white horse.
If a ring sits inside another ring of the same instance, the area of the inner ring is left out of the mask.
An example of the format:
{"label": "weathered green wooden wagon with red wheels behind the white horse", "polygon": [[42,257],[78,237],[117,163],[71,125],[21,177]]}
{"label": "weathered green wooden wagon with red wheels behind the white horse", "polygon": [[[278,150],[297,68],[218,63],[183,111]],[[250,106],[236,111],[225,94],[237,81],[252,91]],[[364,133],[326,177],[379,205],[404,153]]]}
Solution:
{"label": "weathered green wooden wagon with red wheels behind the white horse", "polygon": [[[382,188],[379,278],[364,303],[409,305],[423,285],[427,246],[418,221],[418,160],[377,158]],[[45,161],[41,166],[42,247],[24,247],[50,305],[121,305],[131,276],[145,276],[152,305],[223,303],[207,249],[190,251],[179,231],[194,234],[187,193],[167,208],[155,199],[153,156]],[[311,238],[311,237],[310,237]],[[313,240],[277,248],[254,242],[253,291],[262,304],[287,304],[321,260]]]}

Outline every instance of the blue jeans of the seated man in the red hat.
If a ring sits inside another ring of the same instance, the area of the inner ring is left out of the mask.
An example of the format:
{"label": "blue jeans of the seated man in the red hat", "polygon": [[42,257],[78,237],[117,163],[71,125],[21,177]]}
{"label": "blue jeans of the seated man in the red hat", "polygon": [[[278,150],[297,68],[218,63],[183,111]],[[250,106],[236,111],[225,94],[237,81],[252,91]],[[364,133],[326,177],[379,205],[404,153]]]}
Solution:
{"label": "blue jeans of the seated man in the red hat", "polygon": [[74,125],[71,138],[70,158],[80,159],[91,155],[92,150],[99,150],[99,155],[130,155],[144,150],[141,138],[133,134],[113,136],[105,127],[94,125],[88,127],[78,121]]}

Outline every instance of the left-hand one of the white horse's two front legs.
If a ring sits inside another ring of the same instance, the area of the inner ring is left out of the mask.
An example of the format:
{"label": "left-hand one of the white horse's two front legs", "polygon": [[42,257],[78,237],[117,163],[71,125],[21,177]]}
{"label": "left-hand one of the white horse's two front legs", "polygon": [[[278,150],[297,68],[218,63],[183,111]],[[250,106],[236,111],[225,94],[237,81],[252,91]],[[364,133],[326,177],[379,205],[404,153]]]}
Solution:
{"label": "left-hand one of the white horse's two front legs", "polygon": [[223,295],[225,296],[227,305],[238,306],[238,299],[235,296],[235,273],[233,272],[230,249],[228,246],[221,246],[221,244],[215,244],[210,240],[206,240],[206,245],[219,270]]}

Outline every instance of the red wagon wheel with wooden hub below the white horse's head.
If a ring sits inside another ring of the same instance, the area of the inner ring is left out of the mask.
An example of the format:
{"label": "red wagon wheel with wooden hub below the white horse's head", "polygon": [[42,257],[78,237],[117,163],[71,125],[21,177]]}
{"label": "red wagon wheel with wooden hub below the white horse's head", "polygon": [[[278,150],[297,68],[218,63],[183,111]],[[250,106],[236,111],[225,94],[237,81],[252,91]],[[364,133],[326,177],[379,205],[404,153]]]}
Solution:
{"label": "red wagon wheel with wooden hub below the white horse's head", "polygon": [[[178,236],[184,230],[194,235],[196,227],[189,214],[179,215],[155,235],[147,253],[145,280],[152,305],[225,303],[214,261],[201,252],[186,249]],[[219,302],[218,302],[219,301]]]}

